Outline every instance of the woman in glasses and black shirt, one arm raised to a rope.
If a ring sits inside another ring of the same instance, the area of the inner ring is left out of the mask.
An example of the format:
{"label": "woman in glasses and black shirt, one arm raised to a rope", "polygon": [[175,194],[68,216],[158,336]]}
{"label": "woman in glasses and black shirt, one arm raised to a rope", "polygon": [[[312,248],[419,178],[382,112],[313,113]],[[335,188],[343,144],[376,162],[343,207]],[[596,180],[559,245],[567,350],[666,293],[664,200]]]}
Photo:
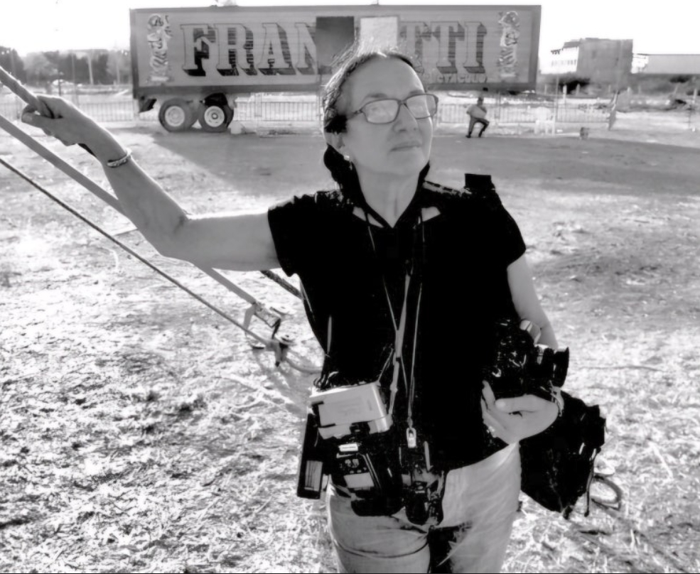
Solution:
{"label": "woman in glasses and black shirt, one arm raised to a rope", "polygon": [[[500,570],[517,510],[517,442],[547,428],[558,408],[532,395],[496,403],[480,373],[503,315],[539,325],[544,345],[556,339],[500,201],[424,181],[437,99],[410,60],[376,51],[346,60],[325,97],[324,161],[338,189],[253,215],[188,216],[109,132],[68,102],[44,101],[58,119],[28,110],[23,120],[87,144],[161,254],[298,274],[325,351],[319,389],[379,381],[396,430],[383,454],[394,460],[399,450],[404,471],[412,461],[400,479],[408,494],[389,508],[380,493],[379,510],[358,514],[359,491],[331,469],[340,570]],[[456,281],[456,270],[468,280]],[[416,514],[415,499],[436,495]]]}

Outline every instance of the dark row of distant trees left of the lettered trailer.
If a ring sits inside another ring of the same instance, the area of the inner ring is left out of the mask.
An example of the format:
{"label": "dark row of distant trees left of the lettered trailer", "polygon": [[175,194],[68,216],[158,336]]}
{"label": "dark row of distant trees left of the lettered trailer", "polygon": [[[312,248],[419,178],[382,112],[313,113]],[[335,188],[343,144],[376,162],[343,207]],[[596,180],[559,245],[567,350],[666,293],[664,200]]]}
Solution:
{"label": "dark row of distant trees left of the lettered trailer", "polygon": [[129,50],[53,50],[24,57],[0,45],[0,66],[28,85],[55,80],[86,85],[131,83]]}

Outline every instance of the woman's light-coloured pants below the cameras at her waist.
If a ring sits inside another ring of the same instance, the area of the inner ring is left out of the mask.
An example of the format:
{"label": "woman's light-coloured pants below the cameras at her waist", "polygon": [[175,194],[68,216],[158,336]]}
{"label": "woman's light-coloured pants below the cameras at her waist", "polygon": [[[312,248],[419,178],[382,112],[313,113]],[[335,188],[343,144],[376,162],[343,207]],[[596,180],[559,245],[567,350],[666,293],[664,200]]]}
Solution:
{"label": "woman's light-coloured pants below the cameras at her waist", "polygon": [[350,499],[328,487],[328,524],[342,573],[475,573],[500,571],[520,492],[517,443],[448,472],[443,521],[411,523],[392,516],[357,516]]}

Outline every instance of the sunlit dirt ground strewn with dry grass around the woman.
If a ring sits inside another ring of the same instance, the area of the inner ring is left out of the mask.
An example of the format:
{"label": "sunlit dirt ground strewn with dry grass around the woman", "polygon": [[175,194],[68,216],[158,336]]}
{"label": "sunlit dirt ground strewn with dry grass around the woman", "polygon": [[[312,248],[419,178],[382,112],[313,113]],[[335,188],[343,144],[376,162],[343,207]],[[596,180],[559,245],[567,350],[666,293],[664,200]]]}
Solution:
{"label": "sunlit dirt ground strewn with dry grass around the woman", "polygon": [[[620,114],[587,140],[434,141],[431,180],[491,173],[519,222],[571,348],[566,388],[603,407],[605,465],[625,494],[619,511],[571,521],[523,495],[506,571],[700,569],[700,133],[684,121]],[[318,135],[116,131],[190,212],[263,209],[330,185]],[[105,185],[85,152],[35,135]],[[242,300],[156,256],[6,134],[0,158],[242,318]],[[323,502],[295,496],[313,377],[275,367],[5,168],[0,198],[0,571],[335,571]],[[319,363],[298,300],[261,274],[228,276],[288,310],[284,332]],[[468,279],[456,269],[455,280]]]}

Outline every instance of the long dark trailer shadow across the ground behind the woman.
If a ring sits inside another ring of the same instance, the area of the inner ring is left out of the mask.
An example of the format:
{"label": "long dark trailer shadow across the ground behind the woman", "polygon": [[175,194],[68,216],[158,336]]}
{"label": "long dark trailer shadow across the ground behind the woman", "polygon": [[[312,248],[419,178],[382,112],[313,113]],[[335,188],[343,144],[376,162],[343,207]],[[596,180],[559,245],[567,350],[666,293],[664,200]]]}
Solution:
{"label": "long dark trailer shadow across the ground behind the woman", "polygon": [[[320,135],[257,136],[158,131],[154,143],[183,161],[216,175],[250,195],[284,199],[332,187],[323,166]],[[566,191],[566,180],[610,185],[609,193],[640,189],[659,193],[696,193],[700,162],[694,148],[611,139],[437,136],[429,178],[462,185],[461,173],[490,173],[500,180],[539,180],[545,188]],[[287,180],[290,187],[260,188],[260,176]],[[292,183],[293,182],[293,183]],[[592,186],[593,188],[596,186]],[[576,193],[585,190],[576,185]],[[599,193],[599,190],[595,193]]]}

